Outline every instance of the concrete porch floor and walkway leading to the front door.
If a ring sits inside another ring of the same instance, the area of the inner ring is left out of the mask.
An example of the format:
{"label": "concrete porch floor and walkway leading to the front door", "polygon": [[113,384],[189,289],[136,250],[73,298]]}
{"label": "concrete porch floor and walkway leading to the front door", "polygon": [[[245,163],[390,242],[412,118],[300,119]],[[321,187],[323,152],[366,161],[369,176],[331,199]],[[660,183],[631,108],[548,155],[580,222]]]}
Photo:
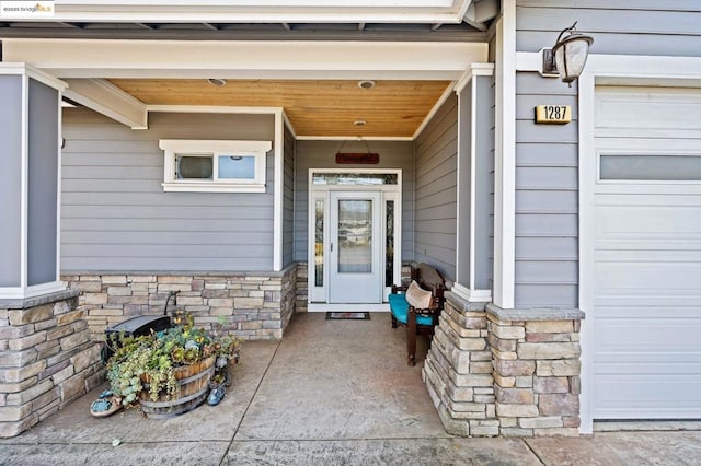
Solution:
{"label": "concrete porch floor and walkway leading to the front door", "polygon": [[217,407],[168,420],[146,419],[138,409],[95,419],[89,412],[95,391],[0,440],[0,464],[701,464],[701,430],[687,423],[577,439],[453,438],[421,380],[425,345],[410,368],[404,330],[390,328],[389,314],[324,317],[299,314],[284,340],[245,342]]}

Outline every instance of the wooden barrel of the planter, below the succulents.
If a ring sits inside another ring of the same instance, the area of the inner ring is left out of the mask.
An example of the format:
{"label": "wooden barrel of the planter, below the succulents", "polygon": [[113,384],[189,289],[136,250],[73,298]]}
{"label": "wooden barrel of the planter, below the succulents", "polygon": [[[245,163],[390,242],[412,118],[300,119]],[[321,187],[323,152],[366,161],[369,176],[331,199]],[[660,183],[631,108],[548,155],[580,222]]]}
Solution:
{"label": "wooden barrel of the planter, below the succulents", "polygon": [[191,411],[205,403],[209,395],[209,381],[215,370],[215,357],[211,356],[191,365],[175,369],[177,389],[172,398],[161,395],[152,401],[148,393],[148,382],[139,394],[141,410],[151,419],[172,418]]}

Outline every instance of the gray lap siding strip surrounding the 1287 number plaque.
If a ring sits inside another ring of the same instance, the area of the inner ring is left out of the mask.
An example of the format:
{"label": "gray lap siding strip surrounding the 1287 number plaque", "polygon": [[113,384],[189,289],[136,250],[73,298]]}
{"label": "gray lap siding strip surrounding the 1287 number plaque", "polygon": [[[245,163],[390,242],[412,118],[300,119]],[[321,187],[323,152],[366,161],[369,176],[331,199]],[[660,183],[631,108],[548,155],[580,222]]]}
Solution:
{"label": "gray lap siding strip surrounding the 1287 number plaque", "polygon": [[578,302],[577,115],[536,125],[539,104],[576,104],[575,88],[536,73],[516,78],[517,307]]}

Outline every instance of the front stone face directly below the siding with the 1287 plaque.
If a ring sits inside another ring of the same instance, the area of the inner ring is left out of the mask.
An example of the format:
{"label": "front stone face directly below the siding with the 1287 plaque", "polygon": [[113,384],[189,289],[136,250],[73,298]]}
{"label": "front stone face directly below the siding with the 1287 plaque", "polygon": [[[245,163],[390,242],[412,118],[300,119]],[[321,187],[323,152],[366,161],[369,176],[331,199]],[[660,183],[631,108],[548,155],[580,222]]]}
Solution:
{"label": "front stone face directly below the siding with the 1287 plaque", "polygon": [[584,313],[492,304],[486,311],[501,434],[577,435]]}

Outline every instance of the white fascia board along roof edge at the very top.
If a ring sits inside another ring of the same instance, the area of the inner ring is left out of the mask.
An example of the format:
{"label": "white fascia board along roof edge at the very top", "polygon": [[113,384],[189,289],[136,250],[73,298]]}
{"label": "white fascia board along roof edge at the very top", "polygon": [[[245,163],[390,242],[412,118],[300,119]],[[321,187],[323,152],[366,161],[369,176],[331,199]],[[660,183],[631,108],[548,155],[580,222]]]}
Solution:
{"label": "white fascia board along roof edge at the very top", "polygon": [[[472,0],[62,0],[55,21],[460,23]],[[106,3],[106,4],[105,4]]]}

